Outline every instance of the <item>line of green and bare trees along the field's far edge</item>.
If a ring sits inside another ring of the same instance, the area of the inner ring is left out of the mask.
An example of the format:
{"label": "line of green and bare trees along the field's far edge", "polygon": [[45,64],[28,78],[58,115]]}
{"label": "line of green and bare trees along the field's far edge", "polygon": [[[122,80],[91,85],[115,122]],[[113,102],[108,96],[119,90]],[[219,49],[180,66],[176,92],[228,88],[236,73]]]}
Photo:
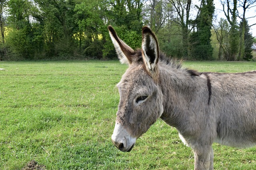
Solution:
{"label": "line of green and bare trees along the field's far edge", "polygon": [[226,18],[215,20],[213,0],[1,0],[0,60],[113,59],[108,25],[133,49],[150,25],[170,56],[250,61],[245,13],[256,0],[220,2]]}

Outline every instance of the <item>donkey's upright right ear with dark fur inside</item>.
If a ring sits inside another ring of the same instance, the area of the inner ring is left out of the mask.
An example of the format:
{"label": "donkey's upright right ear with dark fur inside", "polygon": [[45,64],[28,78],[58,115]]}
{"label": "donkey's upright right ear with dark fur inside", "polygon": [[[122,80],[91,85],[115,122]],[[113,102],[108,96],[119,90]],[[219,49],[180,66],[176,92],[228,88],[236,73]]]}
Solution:
{"label": "donkey's upright right ear with dark fur inside", "polygon": [[148,26],[142,28],[142,57],[148,72],[154,77],[157,72],[159,48],[156,35]]}

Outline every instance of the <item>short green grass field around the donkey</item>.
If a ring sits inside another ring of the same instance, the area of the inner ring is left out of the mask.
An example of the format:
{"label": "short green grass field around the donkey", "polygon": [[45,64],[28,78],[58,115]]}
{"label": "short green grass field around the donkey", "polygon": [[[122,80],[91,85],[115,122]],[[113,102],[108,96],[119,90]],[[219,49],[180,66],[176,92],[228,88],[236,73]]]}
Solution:
{"label": "short green grass field around the donkey", "polygon": [[[184,62],[198,71],[244,72],[253,62]],[[192,170],[192,150],[158,120],[131,152],[112,145],[118,61],[0,62],[0,170],[31,160],[47,170]],[[214,144],[216,170],[255,170],[256,147]]]}

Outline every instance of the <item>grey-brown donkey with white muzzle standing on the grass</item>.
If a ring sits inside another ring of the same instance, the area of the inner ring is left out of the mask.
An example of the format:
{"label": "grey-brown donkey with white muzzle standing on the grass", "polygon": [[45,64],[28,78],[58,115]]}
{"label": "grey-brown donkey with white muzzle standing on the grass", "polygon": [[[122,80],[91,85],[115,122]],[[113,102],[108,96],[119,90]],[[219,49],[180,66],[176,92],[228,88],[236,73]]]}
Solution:
{"label": "grey-brown donkey with white muzzle standing on the grass", "polygon": [[197,72],[160,53],[155,34],[142,28],[134,51],[108,26],[121,63],[129,65],[117,84],[120,102],[113,144],[130,152],[158,118],[175,127],[194,152],[194,170],[213,170],[212,143],[256,145],[256,71]]}

